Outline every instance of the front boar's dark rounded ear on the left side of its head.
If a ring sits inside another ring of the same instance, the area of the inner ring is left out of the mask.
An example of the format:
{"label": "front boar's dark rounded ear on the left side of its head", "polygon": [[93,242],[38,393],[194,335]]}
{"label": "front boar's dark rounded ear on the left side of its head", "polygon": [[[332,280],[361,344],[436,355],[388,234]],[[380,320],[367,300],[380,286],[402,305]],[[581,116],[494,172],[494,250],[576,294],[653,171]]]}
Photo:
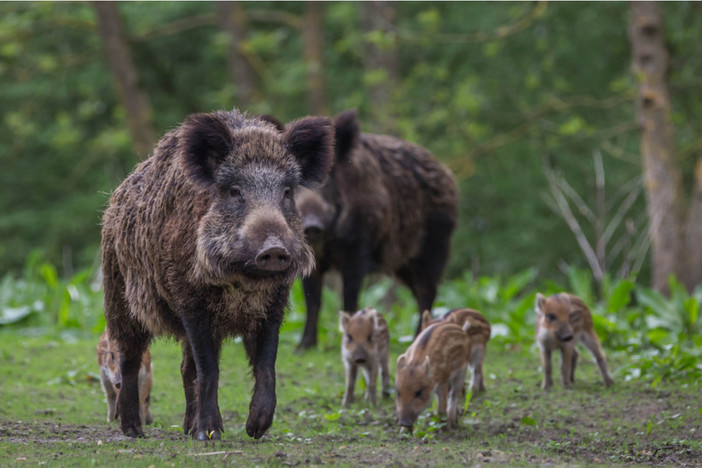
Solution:
{"label": "front boar's dark rounded ear on the left side of its head", "polygon": [[192,183],[207,188],[214,172],[234,147],[229,127],[215,114],[193,114],[180,126],[178,149]]}

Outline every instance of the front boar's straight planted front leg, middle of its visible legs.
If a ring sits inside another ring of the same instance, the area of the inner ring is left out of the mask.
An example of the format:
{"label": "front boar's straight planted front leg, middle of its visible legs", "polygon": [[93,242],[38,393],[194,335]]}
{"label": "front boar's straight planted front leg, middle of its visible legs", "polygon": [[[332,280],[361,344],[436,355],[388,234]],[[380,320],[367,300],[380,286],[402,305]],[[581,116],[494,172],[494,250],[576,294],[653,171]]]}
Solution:
{"label": "front boar's straight planted front leg, middle of its visible legs", "polygon": [[[195,318],[185,320],[185,330],[190,343],[190,353],[192,362],[195,363],[196,384],[194,385],[196,395],[193,395],[192,388],[189,387],[186,379],[192,376],[192,364],[185,360],[181,368],[183,373],[183,386],[185,389],[186,405],[192,406],[192,402],[197,401],[197,417],[192,423],[193,414],[190,408],[186,407],[185,424],[188,424],[190,417],[190,433],[198,440],[218,440],[221,438],[222,416],[219,413],[217,403],[217,386],[219,383],[219,351],[221,343],[213,338],[212,327],[203,319],[203,314],[198,314]],[[184,369],[184,370],[183,370]],[[190,398],[190,401],[188,401]],[[184,430],[188,428],[184,427]]]}

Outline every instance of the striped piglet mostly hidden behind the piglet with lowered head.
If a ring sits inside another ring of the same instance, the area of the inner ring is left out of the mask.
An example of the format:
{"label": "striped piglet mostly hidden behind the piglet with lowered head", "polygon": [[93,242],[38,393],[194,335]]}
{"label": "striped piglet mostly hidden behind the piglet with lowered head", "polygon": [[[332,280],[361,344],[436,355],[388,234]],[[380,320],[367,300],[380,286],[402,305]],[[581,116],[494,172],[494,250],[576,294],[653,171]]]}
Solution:
{"label": "striped piglet mostly hidden behind the piglet with lowered head", "polygon": [[428,310],[422,314],[422,330],[432,323],[450,322],[459,327],[468,324],[468,336],[470,337],[470,389],[475,394],[485,391],[485,379],[483,378],[483,361],[487,351],[487,342],[490,341],[490,322],[477,310],[473,309],[452,309],[441,317],[434,319]]}

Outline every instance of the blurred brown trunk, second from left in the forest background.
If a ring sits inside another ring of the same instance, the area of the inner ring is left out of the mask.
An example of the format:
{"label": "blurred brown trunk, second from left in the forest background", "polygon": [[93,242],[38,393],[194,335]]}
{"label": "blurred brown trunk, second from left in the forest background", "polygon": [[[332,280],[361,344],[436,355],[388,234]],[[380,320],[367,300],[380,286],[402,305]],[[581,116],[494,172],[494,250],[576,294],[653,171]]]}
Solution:
{"label": "blurred brown trunk, second from left in the forest background", "polygon": [[234,82],[236,104],[248,108],[256,94],[255,76],[249,64],[243,44],[246,41],[246,11],[241,2],[216,2],[219,26],[229,39],[227,46],[227,68]]}

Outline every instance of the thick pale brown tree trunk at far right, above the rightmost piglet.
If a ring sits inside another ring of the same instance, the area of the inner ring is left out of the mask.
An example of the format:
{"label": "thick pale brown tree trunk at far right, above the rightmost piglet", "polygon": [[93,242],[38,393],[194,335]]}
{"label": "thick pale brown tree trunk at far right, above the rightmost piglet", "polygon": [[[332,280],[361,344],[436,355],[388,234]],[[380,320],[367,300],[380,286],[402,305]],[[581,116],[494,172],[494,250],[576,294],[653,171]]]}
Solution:
{"label": "thick pale brown tree trunk at far right, above the rightmost piglet", "polygon": [[[663,18],[655,2],[632,2],[629,39],[638,80],[636,116],[652,248],[652,286],[668,292],[668,275],[682,277],[682,173],[676,160],[674,128],[666,82],[668,53]],[[699,249],[698,249],[699,250]],[[692,253],[692,252],[689,252]]]}

